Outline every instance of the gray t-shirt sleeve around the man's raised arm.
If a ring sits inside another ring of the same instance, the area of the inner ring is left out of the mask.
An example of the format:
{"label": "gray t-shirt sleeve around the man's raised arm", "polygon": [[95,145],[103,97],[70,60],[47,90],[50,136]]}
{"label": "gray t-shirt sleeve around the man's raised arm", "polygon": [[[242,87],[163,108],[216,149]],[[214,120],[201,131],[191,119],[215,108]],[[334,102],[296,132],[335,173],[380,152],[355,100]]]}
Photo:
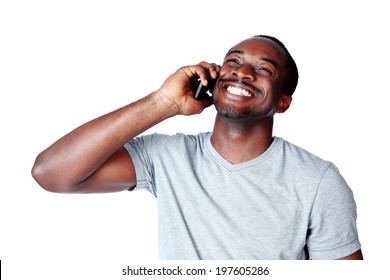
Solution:
{"label": "gray t-shirt sleeve around the man's raised arm", "polygon": [[133,160],[137,177],[136,186],[131,190],[145,189],[157,196],[154,184],[153,155],[156,135],[146,135],[134,138],[124,145]]}

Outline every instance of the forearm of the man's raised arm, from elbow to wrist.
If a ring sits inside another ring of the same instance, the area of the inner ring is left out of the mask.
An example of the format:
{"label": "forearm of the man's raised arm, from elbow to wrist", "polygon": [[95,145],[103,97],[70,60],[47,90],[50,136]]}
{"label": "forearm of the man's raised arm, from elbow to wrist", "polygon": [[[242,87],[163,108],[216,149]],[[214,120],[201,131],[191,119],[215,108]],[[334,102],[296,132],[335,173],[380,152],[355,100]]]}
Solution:
{"label": "forearm of the man's raised arm, from elbow to wrist", "polygon": [[38,155],[32,173],[56,190],[77,186],[127,141],[176,115],[177,106],[158,92],[71,131]]}

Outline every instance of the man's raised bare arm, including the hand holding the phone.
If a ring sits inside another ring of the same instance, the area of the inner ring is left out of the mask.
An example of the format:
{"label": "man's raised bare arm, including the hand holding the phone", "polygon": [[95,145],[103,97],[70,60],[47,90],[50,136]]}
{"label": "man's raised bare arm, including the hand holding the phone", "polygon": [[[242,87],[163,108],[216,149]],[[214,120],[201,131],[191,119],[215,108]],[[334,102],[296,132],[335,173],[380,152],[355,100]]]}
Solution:
{"label": "man's raised bare arm, including the hand holding the phone", "polygon": [[204,62],[180,68],[159,90],[71,131],[37,156],[33,177],[42,188],[61,193],[113,192],[135,186],[134,166],[123,145],[167,118],[200,113],[210,106],[211,100],[198,102],[192,97],[190,84],[198,75],[206,85],[206,71],[216,78],[219,66]]}

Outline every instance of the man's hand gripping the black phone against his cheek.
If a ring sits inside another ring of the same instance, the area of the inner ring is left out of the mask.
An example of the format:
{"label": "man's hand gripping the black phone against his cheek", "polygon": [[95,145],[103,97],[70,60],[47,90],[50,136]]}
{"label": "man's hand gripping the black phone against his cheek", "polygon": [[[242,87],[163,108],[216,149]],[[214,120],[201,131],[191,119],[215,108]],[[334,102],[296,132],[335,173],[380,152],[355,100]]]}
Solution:
{"label": "man's hand gripping the black phone against his cheek", "polygon": [[165,80],[156,93],[166,102],[174,103],[178,114],[199,114],[203,109],[212,105],[213,100],[212,98],[195,100],[194,81],[199,77],[201,83],[206,86],[207,78],[216,79],[220,69],[219,65],[207,62],[181,67]]}

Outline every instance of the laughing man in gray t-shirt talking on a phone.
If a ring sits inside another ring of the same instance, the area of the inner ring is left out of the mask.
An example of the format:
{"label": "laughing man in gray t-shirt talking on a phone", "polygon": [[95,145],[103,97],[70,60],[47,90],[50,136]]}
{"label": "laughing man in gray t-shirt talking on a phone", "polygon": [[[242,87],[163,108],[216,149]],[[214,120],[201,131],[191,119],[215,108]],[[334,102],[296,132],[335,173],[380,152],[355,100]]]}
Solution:
{"label": "laughing man in gray t-shirt talking on a phone", "polygon": [[[215,82],[212,97],[193,98],[197,76]],[[182,67],[157,91],[76,128],[32,174],[60,193],[149,190],[163,259],[362,259],[353,194],[337,168],[272,135],[297,81],[279,40],[249,38],[222,66]],[[212,133],[137,137],[211,104]]]}

